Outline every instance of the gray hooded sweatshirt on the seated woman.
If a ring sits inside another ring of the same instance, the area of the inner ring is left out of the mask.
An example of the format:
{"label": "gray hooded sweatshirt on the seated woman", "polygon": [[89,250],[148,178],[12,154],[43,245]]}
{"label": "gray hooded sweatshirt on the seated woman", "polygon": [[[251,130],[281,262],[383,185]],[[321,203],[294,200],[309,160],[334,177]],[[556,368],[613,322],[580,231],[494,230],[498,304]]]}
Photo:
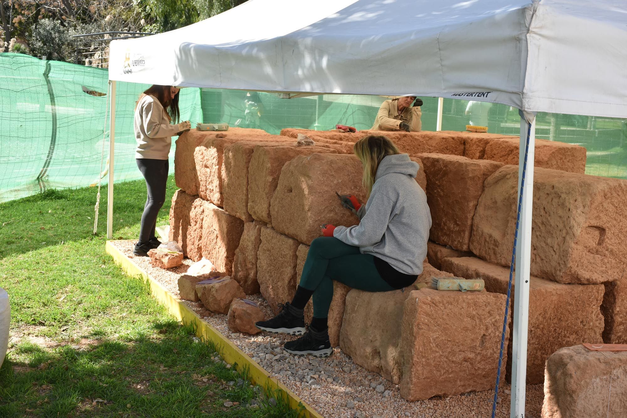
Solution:
{"label": "gray hooded sweatshirt on the seated woman", "polygon": [[419,275],[427,255],[431,213],[427,196],[414,178],[418,163],[409,155],[388,155],[379,164],[361,221],[336,227],[333,236],[381,258],[401,273]]}

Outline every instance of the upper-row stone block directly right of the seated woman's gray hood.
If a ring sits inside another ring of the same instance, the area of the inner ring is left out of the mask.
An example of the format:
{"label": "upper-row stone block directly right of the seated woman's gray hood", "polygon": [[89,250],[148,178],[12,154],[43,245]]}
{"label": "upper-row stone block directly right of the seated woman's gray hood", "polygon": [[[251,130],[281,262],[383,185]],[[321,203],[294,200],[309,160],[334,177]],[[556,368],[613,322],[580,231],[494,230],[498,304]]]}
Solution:
{"label": "upper-row stone block directly right of the seated woman's gray hood", "polygon": [[429,239],[456,250],[470,250],[470,233],[483,182],[501,163],[457,155],[421,154],[431,210]]}

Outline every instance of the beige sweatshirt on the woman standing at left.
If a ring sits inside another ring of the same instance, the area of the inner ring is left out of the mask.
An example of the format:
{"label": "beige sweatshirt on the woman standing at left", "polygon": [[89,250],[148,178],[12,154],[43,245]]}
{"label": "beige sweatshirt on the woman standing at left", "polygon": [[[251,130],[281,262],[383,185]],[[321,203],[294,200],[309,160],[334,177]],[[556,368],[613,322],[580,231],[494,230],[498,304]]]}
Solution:
{"label": "beige sweatshirt on the woman standing at left", "polygon": [[159,100],[150,94],[139,99],[135,109],[135,158],[167,160],[172,146],[172,136],[179,131],[170,125],[166,110]]}

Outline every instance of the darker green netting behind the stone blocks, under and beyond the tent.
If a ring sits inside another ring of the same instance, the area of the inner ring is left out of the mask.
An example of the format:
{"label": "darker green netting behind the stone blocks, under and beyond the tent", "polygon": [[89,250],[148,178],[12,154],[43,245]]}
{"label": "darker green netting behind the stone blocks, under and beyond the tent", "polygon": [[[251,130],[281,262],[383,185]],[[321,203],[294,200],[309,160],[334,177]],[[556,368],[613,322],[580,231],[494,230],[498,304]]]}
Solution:
{"label": "darker green netting behind the stone blocks, under and beyond the tent", "polygon": [[[324,94],[280,99],[253,91],[203,89],[203,118],[230,126],[261,128],[279,133],[283,128],[328,130],[335,125],[371,128],[386,98]],[[438,99],[423,98],[423,130],[435,130]],[[463,131],[466,125],[488,126],[488,132],[520,135],[518,110],[477,101],[445,99],[442,130]],[[627,178],[627,120],[594,116],[539,113],[536,137],[585,146],[586,173]]]}

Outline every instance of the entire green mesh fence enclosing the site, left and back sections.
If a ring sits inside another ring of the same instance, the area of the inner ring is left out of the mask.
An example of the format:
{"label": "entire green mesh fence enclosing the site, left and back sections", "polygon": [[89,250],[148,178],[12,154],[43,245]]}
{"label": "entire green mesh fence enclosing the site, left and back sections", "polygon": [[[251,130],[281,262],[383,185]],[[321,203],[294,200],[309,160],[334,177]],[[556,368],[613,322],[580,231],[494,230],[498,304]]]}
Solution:
{"label": "entire green mesh fence enclosing the site, left and back sections", "polygon": [[[147,84],[117,83],[115,181],[141,178],[135,165],[133,113]],[[0,201],[45,188],[88,186],[100,177],[107,108],[107,70],[21,54],[0,54]],[[281,99],[254,91],[186,88],[181,117],[227,122],[278,134],[283,128],[328,130],[337,123],[371,128],[381,96],[325,94]],[[435,130],[437,99],[423,98],[423,129]],[[470,104],[470,105],[469,105]],[[519,135],[518,111],[509,106],[445,99],[443,130],[469,123]],[[537,138],[585,146],[586,173],[627,178],[626,120],[537,115]],[[108,138],[105,138],[105,160]],[[174,170],[172,158],[171,170]],[[103,178],[106,182],[107,176]]]}

